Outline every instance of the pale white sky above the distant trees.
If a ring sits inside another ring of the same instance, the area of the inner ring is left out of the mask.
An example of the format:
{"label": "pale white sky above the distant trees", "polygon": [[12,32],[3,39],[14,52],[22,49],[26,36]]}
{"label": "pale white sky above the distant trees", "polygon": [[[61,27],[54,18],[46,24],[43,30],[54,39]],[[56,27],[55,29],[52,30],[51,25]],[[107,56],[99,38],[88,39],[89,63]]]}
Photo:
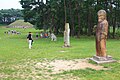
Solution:
{"label": "pale white sky above the distant trees", "polygon": [[0,9],[22,9],[20,0],[0,0]]}

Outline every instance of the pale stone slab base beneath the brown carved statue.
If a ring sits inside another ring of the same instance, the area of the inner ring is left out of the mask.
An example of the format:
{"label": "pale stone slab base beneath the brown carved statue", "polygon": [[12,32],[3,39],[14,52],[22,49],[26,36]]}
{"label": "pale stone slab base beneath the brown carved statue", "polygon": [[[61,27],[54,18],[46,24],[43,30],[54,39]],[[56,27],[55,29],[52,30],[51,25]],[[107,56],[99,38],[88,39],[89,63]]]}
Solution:
{"label": "pale stone slab base beneath the brown carved statue", "polygon": [[90,58],[90,60],[96,62],[97,64],[116,62],[116,60],[113,60],[112,56],[109,55],[107,57],[99,57],[95,55]]}

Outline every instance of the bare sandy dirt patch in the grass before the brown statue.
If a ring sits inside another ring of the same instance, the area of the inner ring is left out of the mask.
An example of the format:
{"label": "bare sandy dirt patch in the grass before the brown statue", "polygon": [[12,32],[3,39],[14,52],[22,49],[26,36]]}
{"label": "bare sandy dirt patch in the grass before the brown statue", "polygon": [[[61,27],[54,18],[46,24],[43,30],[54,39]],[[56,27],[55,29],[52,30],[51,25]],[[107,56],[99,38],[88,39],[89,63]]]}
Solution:
{"label": "bare sandy dirt patch in the grass before the brown statue", "polygon": [[90,64],[87,59],[54,60],[49,63],[37,63],[36,67],[37,68],[44,67],[51,69],[53,74],[62,73],[63,71],[86,69],[86,68],[91,68],[95,70],[106,70],[106,68],[103,68],[103,66]]}

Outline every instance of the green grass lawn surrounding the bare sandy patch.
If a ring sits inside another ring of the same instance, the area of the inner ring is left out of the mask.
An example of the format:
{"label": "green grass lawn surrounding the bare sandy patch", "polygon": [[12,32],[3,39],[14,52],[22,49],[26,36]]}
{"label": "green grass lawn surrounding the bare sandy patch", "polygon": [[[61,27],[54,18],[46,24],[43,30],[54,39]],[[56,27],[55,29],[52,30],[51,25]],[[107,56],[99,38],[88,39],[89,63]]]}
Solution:
{"label": "green grass lawn surrounding the bare sandy patch", "polygon": [[[8,30],[17,30],[21,35],[4,34]],[[28,49],[26,36],[31,31],[34,37],[33,48]],[[62,48],[63,37],[56,42],[49,38],[35,39],[39,30],[13,29],[0,27],[0,80],[120,80],[120,40],[107,41],[107,54],[117,60],[116,63],[101,64],[109,70],[80,69],[60,74],[48,74],[51,71],[34,68],[37,62],[52,60],[73,60],[91,58],[95,55],[94,37],[71,38],[70,48]],[[61,52],[64,51],[64,52]],[[90,61],[91,64],[95,64]],[[45,72],[47,72],[45,74]]]}

